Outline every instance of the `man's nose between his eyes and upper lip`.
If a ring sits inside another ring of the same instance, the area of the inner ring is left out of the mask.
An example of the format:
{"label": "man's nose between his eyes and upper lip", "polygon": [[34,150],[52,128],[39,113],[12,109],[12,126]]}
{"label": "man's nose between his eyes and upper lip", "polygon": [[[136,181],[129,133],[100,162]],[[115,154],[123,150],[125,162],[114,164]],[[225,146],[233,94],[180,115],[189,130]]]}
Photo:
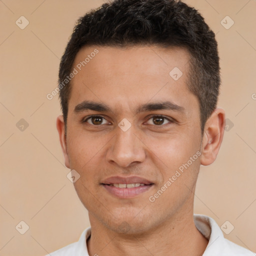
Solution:
{"label": "man's nose between his eyes and upper lip", "polygon": [[133,125],[126,131],[117,126],[115,136],[110,141],[111,145],[106,154],[108,162],[115,162],[121,167],[128,167],[134,162],[144,161],[144,144],[136,134]]}

